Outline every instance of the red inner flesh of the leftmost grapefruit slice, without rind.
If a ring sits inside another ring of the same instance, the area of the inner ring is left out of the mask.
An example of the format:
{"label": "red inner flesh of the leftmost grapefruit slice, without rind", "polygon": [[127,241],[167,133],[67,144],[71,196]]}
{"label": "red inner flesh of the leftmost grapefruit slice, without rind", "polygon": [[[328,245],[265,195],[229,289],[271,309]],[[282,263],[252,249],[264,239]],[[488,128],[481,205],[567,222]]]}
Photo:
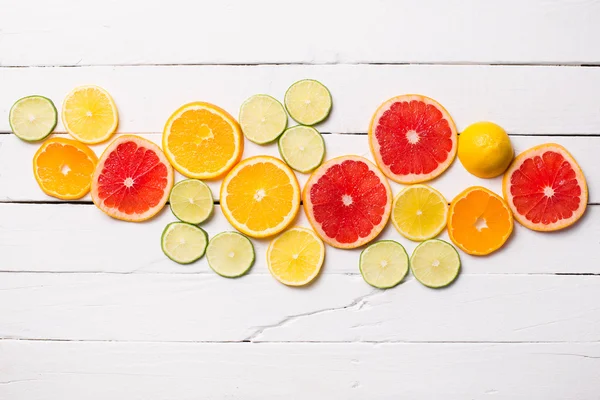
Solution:
{"label": "red inner flesh of the leftmost grapefruit slice, without rind", "polygon": [[127,141],[108,154],[98,177],[98,198],[105,207],[143,214],[161,202],[167,185],[167,166],[158,155]]}

